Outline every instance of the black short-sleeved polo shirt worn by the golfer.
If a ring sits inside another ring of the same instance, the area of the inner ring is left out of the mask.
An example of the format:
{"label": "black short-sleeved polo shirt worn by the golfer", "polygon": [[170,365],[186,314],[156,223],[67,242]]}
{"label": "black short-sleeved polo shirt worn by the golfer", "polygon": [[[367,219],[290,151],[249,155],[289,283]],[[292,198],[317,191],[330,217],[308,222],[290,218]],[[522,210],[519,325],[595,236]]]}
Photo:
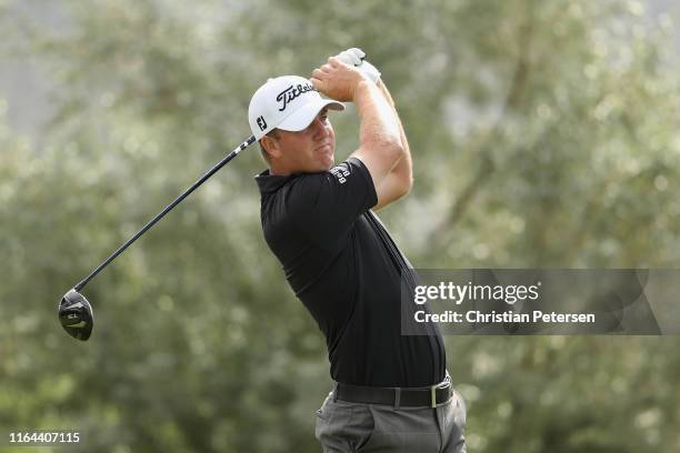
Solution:
{"label": "black short-sleeved polo shirt worn by the golfer", "polygon": [[327,172],[267,170],[256,180],[264,239],[326,335],[331,378],[372,386],[441,382],[439,331],[401,334],[400,275],[413,271],[370,211],[378,198],[366,165],[351,158]]}

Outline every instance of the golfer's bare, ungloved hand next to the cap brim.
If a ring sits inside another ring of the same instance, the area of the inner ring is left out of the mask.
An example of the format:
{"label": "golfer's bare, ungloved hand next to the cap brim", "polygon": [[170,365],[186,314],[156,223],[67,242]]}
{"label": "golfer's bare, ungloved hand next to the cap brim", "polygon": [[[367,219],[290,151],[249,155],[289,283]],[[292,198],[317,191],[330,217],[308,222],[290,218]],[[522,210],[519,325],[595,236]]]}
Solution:
{"label": "golfer's bare, ungloved hand next to the cap brim", "polygon": [[312,71],[310,81],[327,97],[340,102],[352,102],[359,84],[370,80],[353,66],[331,57],[328,63]]}

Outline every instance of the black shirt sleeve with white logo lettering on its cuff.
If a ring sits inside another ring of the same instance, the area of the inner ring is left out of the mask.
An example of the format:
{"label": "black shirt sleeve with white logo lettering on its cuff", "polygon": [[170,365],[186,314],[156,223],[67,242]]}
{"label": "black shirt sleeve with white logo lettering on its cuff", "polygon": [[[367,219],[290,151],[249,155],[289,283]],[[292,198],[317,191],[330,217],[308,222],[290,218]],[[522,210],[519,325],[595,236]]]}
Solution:
{"label": "black shirt sleeve with white logo lettering on its cuff", "polygon": [[362,213],[378,203],[373,180],[359,159],[299,179],[291,193],[297,226],[323,248],[343,242]]}

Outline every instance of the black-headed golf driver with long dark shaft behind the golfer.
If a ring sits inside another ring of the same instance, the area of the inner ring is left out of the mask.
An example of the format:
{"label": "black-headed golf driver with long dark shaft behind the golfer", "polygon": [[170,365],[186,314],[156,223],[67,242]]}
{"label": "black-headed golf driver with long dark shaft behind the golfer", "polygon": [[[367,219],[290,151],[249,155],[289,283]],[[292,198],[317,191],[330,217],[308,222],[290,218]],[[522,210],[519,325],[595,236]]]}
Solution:
{"label": "black-headed golf driver with long dark shaft behind the golfer", "polygon": [[92,305],[90,302],[80,293],[82,289],[88,284],[90,280],[92,280],[99,272],[101,272],[107,265],[109,265],[119,254],[121,254],[128,246],[130,246],[134,241],[139,239],[142,234],[147,232],[151,226],[153,226],[159,220],[161,220],[168,212],[172,210],[176,205],[178,205],[183,199],[189,197],[191,192],[193,192],[199,185],[206,182],[210,177],[217,173],[222,167],[224,167],[229,161],[236,158],[239,152],[243,151],[250,144],[256,141],[254,135],[251,135],[243,143],[239,144],[233,151],[231,151],[224,159],[219,161],[214,167],[206,172],[198,181],[196,181],[189,189],[187,189],[182,194],[180,194],[174,201],[168,204],[161,212],[159,212],[153,219],[149,221],[134,234],[128,242],[122,244],[117,251],[111,253],[109,258],[97,269],[94,269],[88,276],[86,276],[80,283],[69,290],[63,298],[61,298],[61,302],[59,303],[59,321],[61,322],[61,326],[67,333],[74,339],[87,341],[91,333],[92,326],[94,323],[94,316],[92,314]]}

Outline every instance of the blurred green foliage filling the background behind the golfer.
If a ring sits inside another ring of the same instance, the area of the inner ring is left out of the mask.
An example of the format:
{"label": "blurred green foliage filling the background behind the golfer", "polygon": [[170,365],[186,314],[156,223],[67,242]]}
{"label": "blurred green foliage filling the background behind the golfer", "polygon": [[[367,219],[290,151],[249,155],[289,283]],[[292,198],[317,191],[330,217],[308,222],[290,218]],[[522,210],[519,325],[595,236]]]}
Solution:
{"label": "blurred green foliage filling the background behind the golfer", "polygon": [[[88,285],[88,343],[61,332],[54,309],[249,135],[260,83],[348,47],[368,51],[407,128],[416,187],[382,217],[417,266],[680,258],[672,30],[646,24],[637,2],[61,8],[56,30],[0,16],[0,49],[47,68],[56,108],[32,147],[0,98],[0,431],[78,429],[87,442],[73,451],[319,450],[324,343],[261,238],[256,150]],[[351,109],[332,121],[343,158],[358,123]],[[680,449],[672,338],[447,342],[470,451]]]}

